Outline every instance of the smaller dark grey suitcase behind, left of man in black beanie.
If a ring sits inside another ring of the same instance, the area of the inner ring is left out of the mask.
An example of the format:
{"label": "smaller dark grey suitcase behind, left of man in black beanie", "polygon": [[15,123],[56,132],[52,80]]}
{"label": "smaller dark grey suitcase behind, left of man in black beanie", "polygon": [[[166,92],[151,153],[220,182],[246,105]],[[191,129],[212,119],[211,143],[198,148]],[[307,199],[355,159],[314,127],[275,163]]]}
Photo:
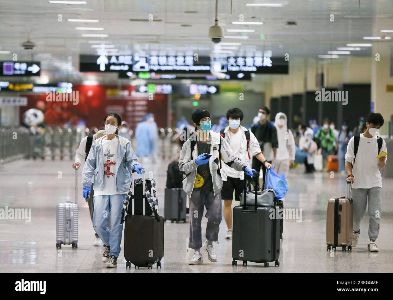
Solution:
{"label": "smaller dark grey suitcase behind, left of man in black beanie", "polygon": [[187,208],[187,194],[182,188],[179,189],[165,189],[164,198],[164,217],[165,221],[169,220],[171,223],[185,221]]}

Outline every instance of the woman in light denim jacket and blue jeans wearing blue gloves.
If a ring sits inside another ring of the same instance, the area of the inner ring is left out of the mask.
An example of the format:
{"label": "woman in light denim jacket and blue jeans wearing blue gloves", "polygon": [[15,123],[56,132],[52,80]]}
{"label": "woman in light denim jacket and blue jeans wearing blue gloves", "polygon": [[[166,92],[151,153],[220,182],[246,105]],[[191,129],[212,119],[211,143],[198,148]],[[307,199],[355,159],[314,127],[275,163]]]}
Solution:
{"label": "woman in light denim jacket and blue jeans wearing blue gloves", "polygon": [[[94,176],[93,226],[104,243],[102,261],[116,267],[120,253],[123,224],[121,210],[132,182],[132,169],[142,174],[131,142],[119,136],[121,117],[111,113],[105,118],[105,135],[94,141],[82,173],[83,198],[91,194]],[[107,226],[110,215],[110,230]]]}

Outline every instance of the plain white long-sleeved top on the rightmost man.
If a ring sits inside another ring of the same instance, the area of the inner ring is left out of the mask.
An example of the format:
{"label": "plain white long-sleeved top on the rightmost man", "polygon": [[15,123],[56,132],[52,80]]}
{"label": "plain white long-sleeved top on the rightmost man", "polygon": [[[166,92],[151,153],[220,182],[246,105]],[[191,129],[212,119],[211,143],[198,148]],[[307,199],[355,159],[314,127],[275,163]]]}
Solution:
{"label": "plain white long-sleeved top on the rightmost man", "polygon": [[[382,143],[381,151],[386,151],[385,141]],[[356,159],[352,170],[352,174],[355,176],[355,181],[353,183],[354,189],[382,187],[382,177],[378,169],[378,159],[376,158],[378,154],[378,143],[375,136],[366,138],[363,133],[361,133],[358,153],[356,153]],[[345,161],[353,163],[354,157],[354,137],[352,137],[348,143]]]}

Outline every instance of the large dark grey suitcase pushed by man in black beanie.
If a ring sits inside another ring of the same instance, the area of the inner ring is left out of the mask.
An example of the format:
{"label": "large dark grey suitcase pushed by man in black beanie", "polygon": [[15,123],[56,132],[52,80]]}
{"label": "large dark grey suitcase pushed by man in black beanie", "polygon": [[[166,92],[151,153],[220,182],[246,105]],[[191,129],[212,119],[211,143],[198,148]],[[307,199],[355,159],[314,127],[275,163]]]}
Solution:
{"label": "large dark grey suitcase pushed by man in black beanie", "polygon": [[[244,175],[242,197],[255,194],[255,204],[248,206],[247,201],[243,200],[243,206],[233,207],[232,265],[237,265],[237,260],[242,260],[243,265],[247,265],[247,262],[263,262],[264,266],[268,267],[269,262],[274,262],[274,265],[279,266],[280,220],[270,218],[272,212],[274,216],[278,215],[277,198],[274,196],[274,200],[268,206],[258,206],[258,195],[266,193],[266,190],[256,193],[258,186],[255,180],[256,191],[247,193],[249,176]],[[256,178],[258,177],[256,175]]]}

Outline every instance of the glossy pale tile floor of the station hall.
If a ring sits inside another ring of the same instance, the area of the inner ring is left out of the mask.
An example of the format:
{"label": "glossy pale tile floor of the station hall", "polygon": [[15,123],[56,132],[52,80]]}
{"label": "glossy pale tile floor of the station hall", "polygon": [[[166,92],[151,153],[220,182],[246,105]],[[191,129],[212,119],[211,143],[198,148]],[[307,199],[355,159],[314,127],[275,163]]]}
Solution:
{"label": "glossy pale tile floor of the station hall", "polygon": [[[327,173],[303,175],[303,168],[287,176],[290,191],[285,197],[286,208],[302,209],[302,222],[284,220],[283,241],[280,245],[280,267],[270,264],[239,262],[232,267],[231,241],[225,240],[226,225],[220,225],[219,244],[215,244],[218,262],[211,263],[204,256],[204,264],[188,265],[193,255],[187,251],[189,224],[165,224],[165,257],[162,269],[125,269],[121,251],[118,267],[107,269],[101,262],[103,247],[93,247],[94,231],[88,206],[81,196],[79,185],[79,241],[78,249],[62,245],[55,247],[56,205],[74,201],[74,170],[70,161],[18,161],[0,169],[0,208],[30,208],[31,222],[0,220],[0,272],[392,272],[393,271],[393,179],[383,181],[383,204],[379,253],[367,251],[368,217],[365,213],[358,246],[352,252],[338,249],[334,255],[326,251],[327,200],[346,194],[344,175],[330,178]],[[167,163],[143,164],[157,182],[160,211],[163,214],[163,195]],[[59,178],[59,172],[62,172]],[[81,179],[81,171],[79,171]],[[203,232],[206,218],[202,223]],[[123,243],[122,243],[123,244]],[[122,245],[123,248],[123,245]]]}

